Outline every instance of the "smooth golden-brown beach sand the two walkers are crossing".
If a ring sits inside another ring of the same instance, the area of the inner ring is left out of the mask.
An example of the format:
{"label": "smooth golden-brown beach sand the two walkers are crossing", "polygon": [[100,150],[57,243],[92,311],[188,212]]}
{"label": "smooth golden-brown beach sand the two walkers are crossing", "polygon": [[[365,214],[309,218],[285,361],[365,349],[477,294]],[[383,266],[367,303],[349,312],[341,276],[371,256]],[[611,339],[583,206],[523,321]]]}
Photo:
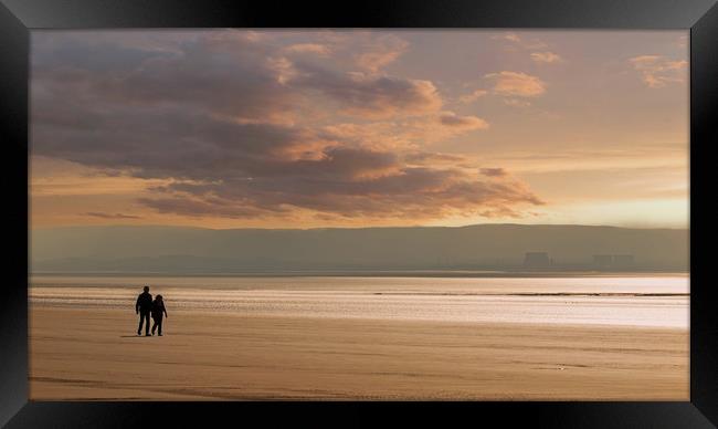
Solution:
{"label": "smooth golden-brown beach sand the two walkers are crossing", "polygon": [[251,317],[33,304],[32,400],[688,400],[675,328]]}

